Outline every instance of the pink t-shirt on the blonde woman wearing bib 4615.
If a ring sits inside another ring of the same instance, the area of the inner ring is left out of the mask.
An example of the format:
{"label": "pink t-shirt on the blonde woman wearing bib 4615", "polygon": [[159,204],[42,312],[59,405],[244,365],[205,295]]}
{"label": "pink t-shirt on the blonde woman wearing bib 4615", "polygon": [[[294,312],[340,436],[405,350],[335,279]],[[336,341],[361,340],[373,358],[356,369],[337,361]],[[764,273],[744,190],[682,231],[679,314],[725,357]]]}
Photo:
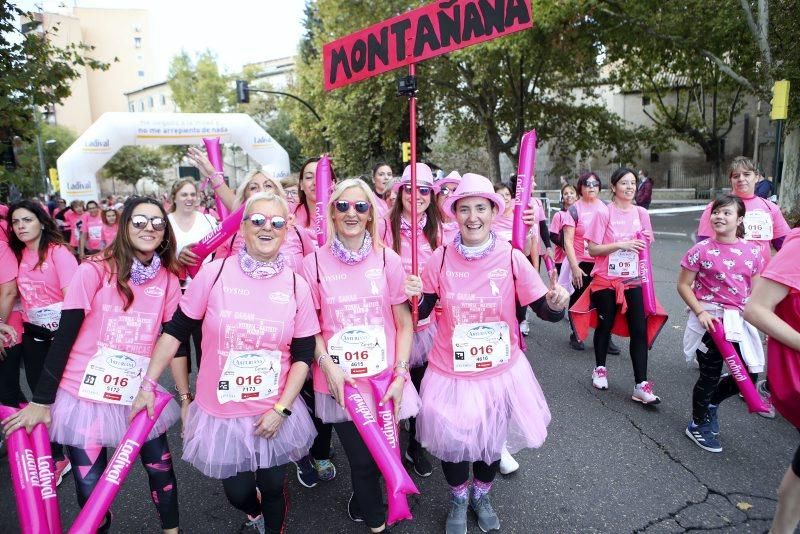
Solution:
{"label": "pink t-shirt on the blonde woman wearing bib 4615", "polygon": [[[303,260],[303,276],[311,286],[325,343],[347,327],[382,327],[386,336],[387,368],[393,369],[397,331],[392,306],[408,300],[400,256],[390,248],[373,248],[359,263],[347,265],[333,255],[330,244],[326,243]],[[368,387],[366,383],[362,386]],[[325,375],[316,364],[314,390],[329,393]]]}

